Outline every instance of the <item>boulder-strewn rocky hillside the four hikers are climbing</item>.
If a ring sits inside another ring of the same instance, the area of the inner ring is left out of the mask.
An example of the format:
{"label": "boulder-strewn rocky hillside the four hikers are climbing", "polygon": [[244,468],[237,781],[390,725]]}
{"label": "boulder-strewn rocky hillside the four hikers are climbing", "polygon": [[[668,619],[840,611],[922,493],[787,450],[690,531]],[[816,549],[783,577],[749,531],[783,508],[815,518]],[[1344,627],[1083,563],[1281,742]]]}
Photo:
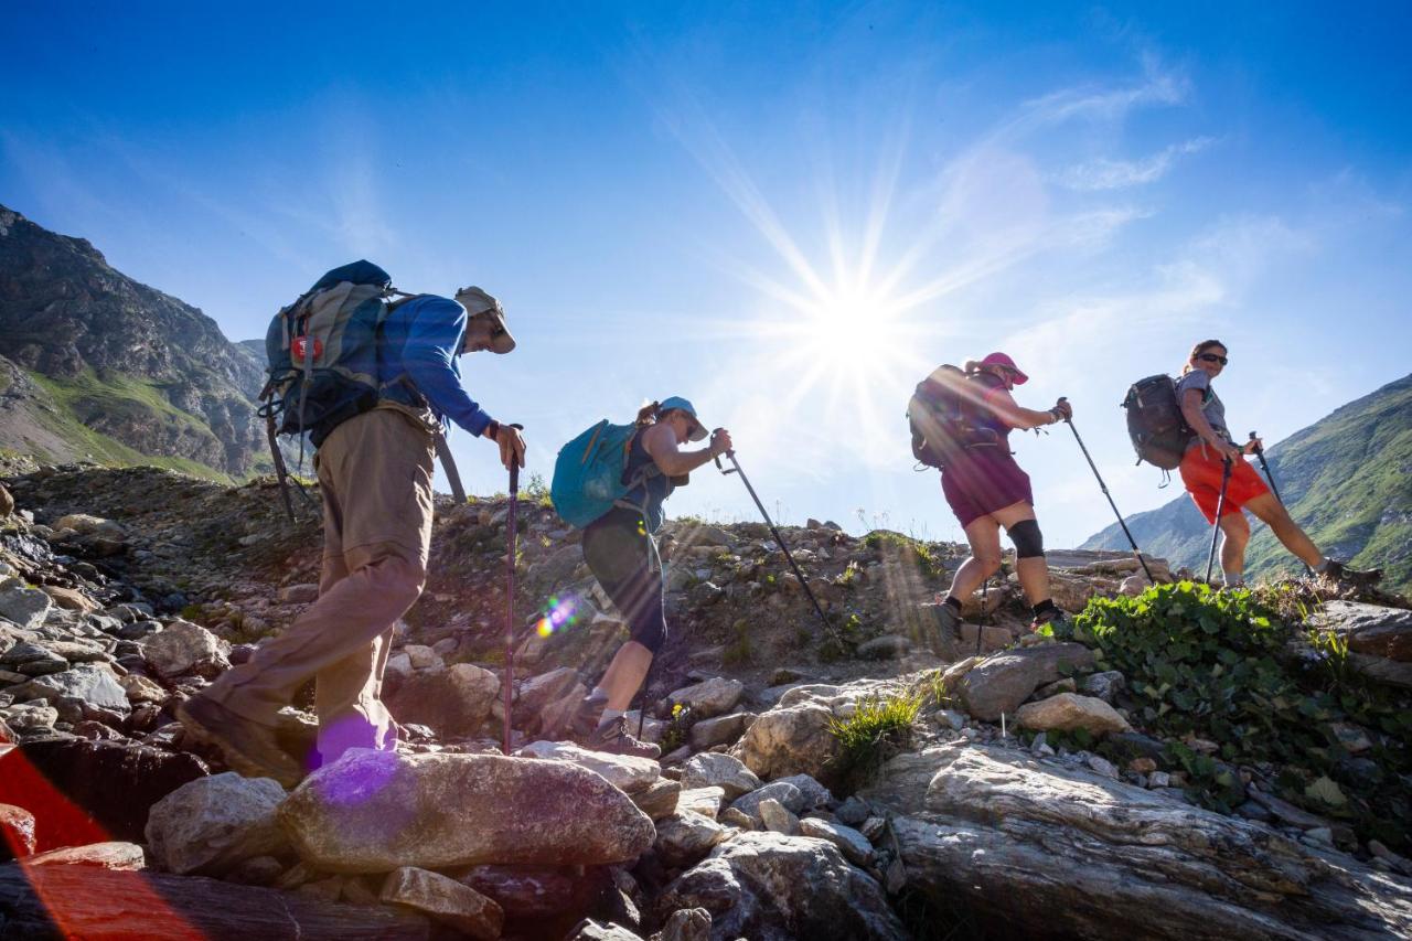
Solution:
{"label": "boulder-strewn rocky hillside the four hikers are climbing", "polygon": [[[679,520],[642,719],[664,757],[630,759],[559,740],[626,629],[531,490],[505,757],[507,504],[443,502],[388,664],[402,747],[287,793],[174,709],[313,600],[315,514],[288,524],[260,480],[8,473],[0,938],[1412,934],[1398,598],[1144,593],[1131,557],[1052,552],[1056,602],[1089,612],[1072,636],[1022,636],[1008,576],[939,639],[962,547],[786,527],[826,632],[764,526]],[[1219,649],[1231,625],[1264,653]],[[1203,644],[1217,665],[1192,665]],[[1223,718],[1247,692],[1268,715]],[[284,722],[309,754],[312,714]]]}

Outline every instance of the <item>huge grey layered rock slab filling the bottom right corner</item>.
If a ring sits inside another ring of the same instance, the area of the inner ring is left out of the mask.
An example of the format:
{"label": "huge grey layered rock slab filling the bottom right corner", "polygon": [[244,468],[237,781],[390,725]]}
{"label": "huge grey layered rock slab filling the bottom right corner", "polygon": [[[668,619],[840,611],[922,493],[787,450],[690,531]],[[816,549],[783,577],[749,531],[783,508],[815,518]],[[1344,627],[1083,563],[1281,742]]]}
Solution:
{"label": "huge grey layered rock slab filling the bottom right corner", "polygon": [[1059,767],[945,745],[861,794],[892,814],[907,887],[995,937],[1405,937],[1412,887],[1348,856]]}

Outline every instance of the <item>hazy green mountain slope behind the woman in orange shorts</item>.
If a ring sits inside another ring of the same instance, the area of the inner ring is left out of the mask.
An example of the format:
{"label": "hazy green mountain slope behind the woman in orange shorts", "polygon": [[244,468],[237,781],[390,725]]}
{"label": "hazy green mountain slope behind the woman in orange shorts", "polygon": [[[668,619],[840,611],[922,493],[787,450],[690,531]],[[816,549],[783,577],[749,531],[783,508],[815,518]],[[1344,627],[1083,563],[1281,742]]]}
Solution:
{"label": "hazy green mountain slope behind the woman in orange shorts", "polygon": [[[1412,376],[1343,406],[1265,456],[1289,511],[1324,551],[1358,568],[1382,568],[1389,588],[1412,591]],[[1173,486],[1180,489],[1180,480]],[[1252,524],[1250,571],[1293,574],[1299,564],[1268,527]],[[1211,530],[1185,493],[1128,517],[1128,527],[1144,552],[1204,568]],[[1083,543],[1124,545],[1115,523]]]}

